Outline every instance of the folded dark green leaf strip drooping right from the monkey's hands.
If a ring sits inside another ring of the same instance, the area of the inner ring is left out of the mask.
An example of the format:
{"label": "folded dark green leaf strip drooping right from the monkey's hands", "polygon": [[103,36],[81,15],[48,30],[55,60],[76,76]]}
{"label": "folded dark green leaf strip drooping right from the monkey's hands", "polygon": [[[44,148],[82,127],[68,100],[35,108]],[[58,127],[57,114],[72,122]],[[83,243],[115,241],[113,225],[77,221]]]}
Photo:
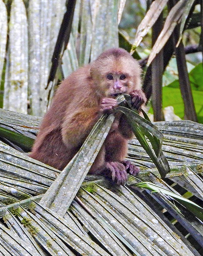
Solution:
{"label": "folded dark green leaf strip drooping right from the monkey's hands", "polygon": [[[170,167],[166,157],[162,152],[163,134],[158,128],[150,121],[142,118],[136,111],[128,109],[126,107],[118,106],[116,111],[121,111],[126,115],[127,121],[131,125],[133,133],[141,146],[145,149],[153,163],[156,165],[161,178],[166,176],[166,173],[170,172]],[[149,139],[150,143],[146,140]]]}

